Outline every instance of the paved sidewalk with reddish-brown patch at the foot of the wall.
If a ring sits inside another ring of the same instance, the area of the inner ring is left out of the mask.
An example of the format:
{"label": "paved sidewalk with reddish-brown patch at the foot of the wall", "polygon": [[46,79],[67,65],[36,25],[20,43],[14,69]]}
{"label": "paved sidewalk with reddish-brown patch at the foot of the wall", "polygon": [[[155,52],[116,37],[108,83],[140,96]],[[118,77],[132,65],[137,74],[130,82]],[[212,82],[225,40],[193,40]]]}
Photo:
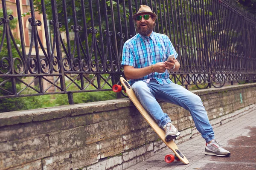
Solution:
{"label": "paved sidewalk with reddish-brown patch at the foot of the wall", "polygon": [[205,155],[200,135],[178,145],[190,162],[187,165],[179,161],[167,164],[164,157],[173,152],[165,149],[126,170],[256,170],[256,110],[213,130],[216,140],[230,151],[229,157]]}

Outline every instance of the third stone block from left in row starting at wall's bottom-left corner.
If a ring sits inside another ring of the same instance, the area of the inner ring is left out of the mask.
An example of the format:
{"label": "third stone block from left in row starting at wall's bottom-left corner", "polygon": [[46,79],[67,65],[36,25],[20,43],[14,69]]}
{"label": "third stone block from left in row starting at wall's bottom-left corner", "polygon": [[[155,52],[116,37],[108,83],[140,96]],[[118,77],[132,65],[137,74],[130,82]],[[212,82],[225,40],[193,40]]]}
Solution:
{"label": "third stone block from left in row starting at wall's bottom-left corner", "polygon": [[131,131],[129,118],[113,119],[85,126],[86,144],[103,141]]}

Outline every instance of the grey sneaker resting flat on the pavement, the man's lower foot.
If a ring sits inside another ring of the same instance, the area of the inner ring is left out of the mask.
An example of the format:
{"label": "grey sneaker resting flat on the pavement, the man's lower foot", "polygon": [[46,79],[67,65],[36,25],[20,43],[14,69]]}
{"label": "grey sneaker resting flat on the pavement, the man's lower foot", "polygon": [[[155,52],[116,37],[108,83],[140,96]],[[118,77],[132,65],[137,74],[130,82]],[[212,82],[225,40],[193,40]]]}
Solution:
{"label": "grey sneaker resting flat on the pavement, the man's lower foot", "polygon": [[221,147],[221,145],[216,140],[214,140],[210,144],[206,143],[205,154],[215,156],[230,156],[231,153]]}

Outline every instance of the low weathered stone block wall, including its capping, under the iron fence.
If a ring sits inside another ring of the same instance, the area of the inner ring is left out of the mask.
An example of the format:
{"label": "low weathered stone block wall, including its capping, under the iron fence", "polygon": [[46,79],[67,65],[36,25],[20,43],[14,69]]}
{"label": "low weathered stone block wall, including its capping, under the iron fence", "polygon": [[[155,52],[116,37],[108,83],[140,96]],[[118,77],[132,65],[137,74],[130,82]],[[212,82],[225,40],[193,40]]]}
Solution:
{"label": "low weathered stone block wall, including its capping, under the iron fence", "polygon": [[[214,127],[256,107],[256,84],[193,92]],[[160,105],[176,143],[198,135],[188,111]],[[0,113],[0,170],[123,170],[165,148],[129,99]]]}

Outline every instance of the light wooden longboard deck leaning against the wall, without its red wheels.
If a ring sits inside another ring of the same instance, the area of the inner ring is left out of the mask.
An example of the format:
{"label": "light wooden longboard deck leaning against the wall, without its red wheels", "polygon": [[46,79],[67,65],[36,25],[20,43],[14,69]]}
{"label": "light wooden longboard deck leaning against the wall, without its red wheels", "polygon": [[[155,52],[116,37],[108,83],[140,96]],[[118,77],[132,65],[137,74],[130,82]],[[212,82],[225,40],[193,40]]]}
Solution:
{"label": "light wooden longboard deck leaning against the wall, without its red wheels", "polygon": [[[123,78],[120,78],[120,82],[125,88],[126,94],[129,96],[131,101],[134,103],[136,108],[140,111],[142,116],[146,119],[148,124],[154,129],[154,131],[157,133],[157,135],[160,137],[160,139],[175,153],[175,155],[182,161],[184,164],[189,164],[189,161],[186,159],[186,157],[179,151],[177,145],[173,140],[166,142],[165,140],[165,131],[157,125],[157,123],[154,121],[154,119],[151,117],[151,115],[143,108],[143,106],[140,104],[139,99],[137,99],[136,94],[131,89],[131,86],[129,83]],[[183,156],[183,157],[182,157]]]}

